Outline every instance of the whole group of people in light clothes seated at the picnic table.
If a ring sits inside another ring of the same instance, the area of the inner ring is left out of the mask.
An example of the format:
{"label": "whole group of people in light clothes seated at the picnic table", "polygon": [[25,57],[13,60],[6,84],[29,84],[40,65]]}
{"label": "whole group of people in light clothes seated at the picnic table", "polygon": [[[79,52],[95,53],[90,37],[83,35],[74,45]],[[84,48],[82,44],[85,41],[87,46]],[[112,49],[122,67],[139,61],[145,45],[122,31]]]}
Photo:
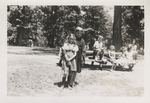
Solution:
{"label": "whole group of people in light clothes seated at the picnic table", "polygon": [[[121,66],[123,69],[129,68],[132,70],[132,67],[137,62],[137,45],[135,44],[135,39],[132,44],[127,46],[122,46],[119,53],[115,52],[115,46],[111,45],[109,49],[103,44],[103,37],[99,36],[97,41],[95,41],[93,57],[95,61],[103,60],[109,61],[112,63],[110,71],[114,71],[116,66]],[[117,54],[120,54],[117,57]],[[103,58],[104,55],[107,57]]]}

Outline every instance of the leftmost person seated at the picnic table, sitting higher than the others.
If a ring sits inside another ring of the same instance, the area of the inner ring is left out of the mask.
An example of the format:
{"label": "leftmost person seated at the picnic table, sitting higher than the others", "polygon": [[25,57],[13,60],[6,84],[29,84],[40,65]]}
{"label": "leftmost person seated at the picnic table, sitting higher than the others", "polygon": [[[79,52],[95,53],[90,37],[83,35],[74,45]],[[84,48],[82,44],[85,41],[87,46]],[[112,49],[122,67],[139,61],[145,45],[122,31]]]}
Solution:
{"label": "leftmost person seated at the picnic table, sitting higher than the others", "polygon": [[[102,59],[103,55],[104,55],[104,51],[103,51],[103,37],[99,35],[97,41],[95,41],[93,49],[93,58],[97,61],[98,59]],[[98,58],[99,57],[99,58]]]}

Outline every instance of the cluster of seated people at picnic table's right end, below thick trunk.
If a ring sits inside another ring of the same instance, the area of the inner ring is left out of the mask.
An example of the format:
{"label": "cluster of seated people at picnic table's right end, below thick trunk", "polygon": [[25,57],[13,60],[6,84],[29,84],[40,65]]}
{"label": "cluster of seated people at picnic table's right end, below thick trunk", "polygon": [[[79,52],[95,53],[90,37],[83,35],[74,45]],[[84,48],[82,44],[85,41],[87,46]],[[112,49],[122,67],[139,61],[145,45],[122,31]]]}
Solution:
{"label": "cluster of seated people at picnic table's right end, below thick trunk", "polygon": [[133,50],[132,44],[129,44],[127,47],[122,46],[119,53],[119,57],[116,58],[115,47],[111,45],[110,50],[108,52],[110,57],[110,62],[112,63],[112,67],[110,71],[114,71],[116,66],[121,66],[122,69],[129,69],[132,71],[133,66],[137,62],[137,51]]}

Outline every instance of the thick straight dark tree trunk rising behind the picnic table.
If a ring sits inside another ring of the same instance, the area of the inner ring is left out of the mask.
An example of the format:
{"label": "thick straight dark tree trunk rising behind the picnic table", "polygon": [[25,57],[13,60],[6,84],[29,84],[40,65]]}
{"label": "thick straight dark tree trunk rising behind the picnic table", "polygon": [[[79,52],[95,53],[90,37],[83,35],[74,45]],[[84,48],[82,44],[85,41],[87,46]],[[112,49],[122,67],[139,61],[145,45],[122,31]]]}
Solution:
{"label": "thick straight dark tree trunk rising behind the picnic table", "polygon": [[120,50],[122,46],[122,36],[121,36],[121,6],[115,6],[114,8],[114,24],[113,24],[113,45],[116,51]]}

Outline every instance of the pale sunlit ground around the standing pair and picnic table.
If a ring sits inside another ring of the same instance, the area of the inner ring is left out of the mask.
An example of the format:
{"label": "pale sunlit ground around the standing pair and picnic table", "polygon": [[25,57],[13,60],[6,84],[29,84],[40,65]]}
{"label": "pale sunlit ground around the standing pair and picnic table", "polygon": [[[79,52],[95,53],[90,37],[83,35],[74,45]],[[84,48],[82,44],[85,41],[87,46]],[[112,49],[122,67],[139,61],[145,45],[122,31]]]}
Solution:
{"label": "pale sunlit ground around the standing pair and picnic table", "polygon": [[73,89],[61,84],[62,70],[57,66],[58,50],[39,47],[10,47],[7,55],[8,96],[99,96],[99,97],[143,97],[144,56],[138,56],[134,71],[117,70],[110,72],[110,66],[101,71],[98,64],[86,65],[77,74],[79,83]]}

